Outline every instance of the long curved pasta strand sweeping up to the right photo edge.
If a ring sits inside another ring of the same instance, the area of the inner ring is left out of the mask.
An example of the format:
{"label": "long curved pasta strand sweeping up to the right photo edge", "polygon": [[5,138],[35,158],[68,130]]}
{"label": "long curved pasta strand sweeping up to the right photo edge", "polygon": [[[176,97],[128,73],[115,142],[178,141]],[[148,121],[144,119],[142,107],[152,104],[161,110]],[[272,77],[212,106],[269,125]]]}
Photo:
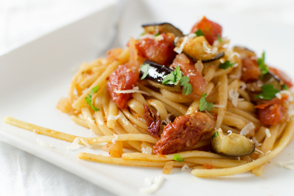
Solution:
{"label": "long curved pasta strand sweeping up to the right photo edge", "polygon": [[279,152],[281,152],[285,148],[285,146],[291,141],[293,130],[294,130],[294,120],[291,119],[276,148],[273,149],[270,153],[267,153],[263,157],[260,157],[252,162],[249,162],[247,164],[240,165],[237,167],[223,168],[223,169],[210,169],[210,170],[193,169],[191,173],[197,177],[218,177],[218,176],[234,175],[234,174],[250,171],[262,165],[263,163],[267,162],[268,160],[276,156]]}

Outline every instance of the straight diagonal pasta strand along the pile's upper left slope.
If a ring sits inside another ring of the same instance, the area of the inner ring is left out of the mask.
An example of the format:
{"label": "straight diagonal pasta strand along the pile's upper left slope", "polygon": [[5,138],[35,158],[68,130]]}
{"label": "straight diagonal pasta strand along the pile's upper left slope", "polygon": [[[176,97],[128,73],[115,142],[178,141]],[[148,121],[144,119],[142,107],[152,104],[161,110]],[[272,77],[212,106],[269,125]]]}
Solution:
{"label": "straight diagonal pasta strand along the pile's upper left slope", "polygon": [[106,78],[120,65],[128,61],[129,58],[129,49],[125,49],[122,54],[120,54],[119,58],[116,59],[113,63],[111,63],[107,69],[100,75],[99,78],[94,81],[91,86],[86,89],[81,96],[72,104],[72,107],[76,110],[82,108],[85,104],[85,97],[90,93],[91,89],[97,85],[101,85],[103,82],[106,82]]}

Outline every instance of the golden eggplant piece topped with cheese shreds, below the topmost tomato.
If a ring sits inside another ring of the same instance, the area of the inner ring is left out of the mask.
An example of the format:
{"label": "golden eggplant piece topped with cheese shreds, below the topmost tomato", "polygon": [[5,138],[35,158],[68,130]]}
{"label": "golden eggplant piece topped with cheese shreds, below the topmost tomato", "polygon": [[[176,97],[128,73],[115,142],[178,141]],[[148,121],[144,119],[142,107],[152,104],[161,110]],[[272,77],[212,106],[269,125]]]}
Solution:
{"label": "golden eggplant piece topped with cheese shreds, below the topmost tomato", "polygon": [[225,53],[213,54],[205,51],[203,44],[204,42],[207,44],[207,48],[213,50],[213,47],[208,43],[208,41],[203,37],[193,37],[189,38],[189,36],[181,37],[174,42],[174,46],[177,48],[181,48],[181,44],[184,42],[182,46],[182,52],[193,59],[193,61],[197,62],[201,60],[203,63],[211,62],[214,60],[218,60],[225,56]]}

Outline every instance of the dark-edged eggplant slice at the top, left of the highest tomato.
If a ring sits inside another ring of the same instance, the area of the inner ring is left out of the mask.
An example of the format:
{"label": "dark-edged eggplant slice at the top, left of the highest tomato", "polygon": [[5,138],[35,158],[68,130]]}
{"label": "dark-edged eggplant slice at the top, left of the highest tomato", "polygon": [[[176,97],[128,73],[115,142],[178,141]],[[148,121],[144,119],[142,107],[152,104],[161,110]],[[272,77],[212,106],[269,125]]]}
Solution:
{"label": "dark-edged eggplant slice at the top, left of the highest tomato", "polygon": [[183,33],[170,23],[155,23],[142,25],[146,33],[173,33],[175,37],[182,37]]}

